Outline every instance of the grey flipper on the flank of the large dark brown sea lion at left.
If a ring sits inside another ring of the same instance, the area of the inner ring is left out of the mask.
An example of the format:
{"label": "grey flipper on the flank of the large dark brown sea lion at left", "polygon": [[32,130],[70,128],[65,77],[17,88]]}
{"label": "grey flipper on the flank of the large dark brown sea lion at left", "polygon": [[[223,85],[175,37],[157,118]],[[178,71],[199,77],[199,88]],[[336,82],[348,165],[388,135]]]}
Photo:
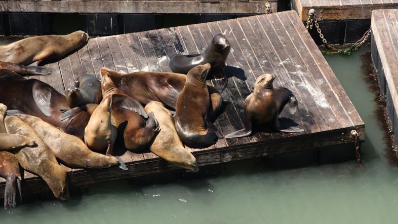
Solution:
{"label": "grey flipper on the flank of the large dark brown sea lion at left", "polygon": [[51,89],[35,82],[32,87],[33,100],[46,117],[51,117]]}

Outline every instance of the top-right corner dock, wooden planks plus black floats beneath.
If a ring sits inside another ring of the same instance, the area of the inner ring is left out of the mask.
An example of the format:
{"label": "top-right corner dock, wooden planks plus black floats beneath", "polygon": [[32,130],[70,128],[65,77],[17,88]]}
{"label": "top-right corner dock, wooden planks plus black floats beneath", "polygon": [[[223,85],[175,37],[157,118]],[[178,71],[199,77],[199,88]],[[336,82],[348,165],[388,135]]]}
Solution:
{"label": "top-right corner dock, wooden planks plus black floats beneath", "polygon": [[[291,0],[301,21],[313,9],[325,38],[332,44],[353,43],[370,28],[372,10],[398,8],[398,0]],[[316,44],[322,44],[316,28],[310,31]]]}

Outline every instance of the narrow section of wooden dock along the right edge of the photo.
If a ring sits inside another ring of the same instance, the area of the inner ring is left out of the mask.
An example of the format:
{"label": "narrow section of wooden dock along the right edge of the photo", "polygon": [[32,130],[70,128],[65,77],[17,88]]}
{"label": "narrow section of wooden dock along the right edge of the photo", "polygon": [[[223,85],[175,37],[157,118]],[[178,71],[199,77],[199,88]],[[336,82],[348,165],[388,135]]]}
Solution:
{"label": "narrow section of wooden dock along the right edge of the photo", "polygon": [[372,12],[372,59],[398,139],[398,9]]}

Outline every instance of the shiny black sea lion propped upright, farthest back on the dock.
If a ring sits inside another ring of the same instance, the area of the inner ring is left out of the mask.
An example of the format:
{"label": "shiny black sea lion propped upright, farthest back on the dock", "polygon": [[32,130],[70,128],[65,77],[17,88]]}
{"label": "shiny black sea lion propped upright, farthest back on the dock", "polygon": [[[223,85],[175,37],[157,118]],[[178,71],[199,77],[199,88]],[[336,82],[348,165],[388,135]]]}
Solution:
{"label": "shiny black sea lion propped upright, farthest back on the dock", "polygon": [[216,89],[222,91],[225,89],[228,81],[223,66],[225,65],[225,60],[230,50],[231,46],[228,39],[223,34],[219,33],[213,36],[212,42],[202,54],[171,55],[170,68],[173,72],[187,74],[188,71],[196,65],[210,63],[211,70],[209,77],[215,79],[214,85]]}

